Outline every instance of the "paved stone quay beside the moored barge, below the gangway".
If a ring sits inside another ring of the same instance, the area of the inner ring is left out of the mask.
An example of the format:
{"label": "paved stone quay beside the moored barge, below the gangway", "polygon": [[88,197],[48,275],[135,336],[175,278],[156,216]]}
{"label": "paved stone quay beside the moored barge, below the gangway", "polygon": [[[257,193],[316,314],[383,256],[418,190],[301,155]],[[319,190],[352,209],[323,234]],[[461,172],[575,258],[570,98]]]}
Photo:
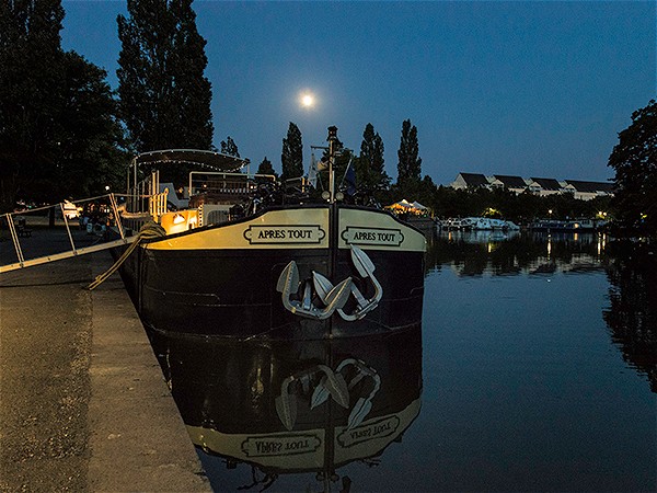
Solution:
{"label": "paved stone quay beside the moored barge, below the gangway", "polygon": [[0,274],[1,492],[211,491],[111,264]]}

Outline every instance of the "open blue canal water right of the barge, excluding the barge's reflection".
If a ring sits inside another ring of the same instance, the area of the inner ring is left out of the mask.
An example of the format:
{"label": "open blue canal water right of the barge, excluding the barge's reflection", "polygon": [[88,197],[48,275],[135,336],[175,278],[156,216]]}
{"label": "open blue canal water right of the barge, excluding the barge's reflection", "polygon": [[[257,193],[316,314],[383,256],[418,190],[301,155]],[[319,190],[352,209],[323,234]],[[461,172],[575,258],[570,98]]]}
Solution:
{"label": "open blue canal water right of the barge, excluding the barge's reflection", "polygon": [[[596,234],[431,240],[422,410],[401,443],[338,468],[350,491],[655,491],[655,255],[610,249]],[[249,483],[199,454],[217,491]],[[344,488],[290,474],[267,491]]]}

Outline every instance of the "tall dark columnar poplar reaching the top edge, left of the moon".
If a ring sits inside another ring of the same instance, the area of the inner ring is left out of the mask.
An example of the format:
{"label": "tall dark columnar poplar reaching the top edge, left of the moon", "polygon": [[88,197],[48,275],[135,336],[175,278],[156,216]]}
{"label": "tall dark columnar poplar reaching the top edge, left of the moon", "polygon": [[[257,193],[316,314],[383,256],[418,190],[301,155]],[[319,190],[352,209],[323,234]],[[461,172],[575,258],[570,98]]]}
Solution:
{"label": "tall dark columnar poplar reaching the top edge, left of the moon", "polygon": [[193,0],[128,0],[118,15],[120,114],[135,149],[212,148],[206,41]]}

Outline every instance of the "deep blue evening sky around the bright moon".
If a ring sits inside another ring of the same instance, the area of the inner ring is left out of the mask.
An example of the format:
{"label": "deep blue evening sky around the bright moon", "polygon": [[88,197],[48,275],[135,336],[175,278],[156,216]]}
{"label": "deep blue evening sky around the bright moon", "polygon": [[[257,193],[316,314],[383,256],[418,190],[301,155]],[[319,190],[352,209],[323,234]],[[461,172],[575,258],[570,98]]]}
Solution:
{"label": "deep blue evening sky around the bright moon", "polygon": [[[124,1],[64,1],[64,49],[117,87]],[[280,171],[289,122],[310,146],[336,125],[358,153],[367,123],[396,179],[402,122],[423,175],[606,181],[632,112],[657,94],[656,2],[200,1],[215,146],[231,136]],[[304,106],[303,94],[314,104]]]}

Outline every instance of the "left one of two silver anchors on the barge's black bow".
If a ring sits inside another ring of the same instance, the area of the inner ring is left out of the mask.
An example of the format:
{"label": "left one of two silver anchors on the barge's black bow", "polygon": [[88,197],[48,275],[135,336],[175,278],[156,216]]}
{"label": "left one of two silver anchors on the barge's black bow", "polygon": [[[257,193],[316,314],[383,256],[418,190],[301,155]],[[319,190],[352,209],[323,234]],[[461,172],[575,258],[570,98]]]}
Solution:
{"label": "left one of two silver anchors on the barge's black bow", "polygon": [[331,286],[324,296],[321,297],[324,308],[320,309],[312,303],[312,288],[310,283],[304,283],[303,298],[301,301],[291,298],[299,290],[299,268],[295,261],[280,273],[276,290],[281,293],[283,306],[290,312],[310,319],[324,320],[333,314],[335,310],[341,309],[347,302],[351,294],[351,277],[347,277],[336,286]]}

